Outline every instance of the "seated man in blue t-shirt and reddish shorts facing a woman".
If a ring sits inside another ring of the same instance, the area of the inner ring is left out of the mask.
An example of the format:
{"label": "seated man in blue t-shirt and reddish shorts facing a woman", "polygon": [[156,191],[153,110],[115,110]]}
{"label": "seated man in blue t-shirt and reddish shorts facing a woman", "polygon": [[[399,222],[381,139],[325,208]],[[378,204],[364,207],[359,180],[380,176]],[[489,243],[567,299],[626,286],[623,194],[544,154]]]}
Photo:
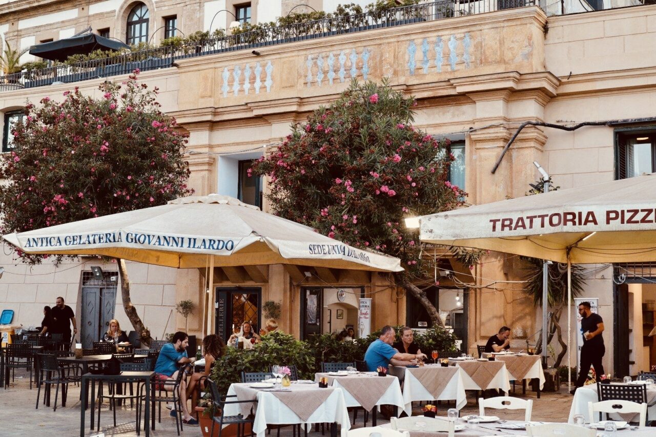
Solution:
{"label": "seated man in blue t-shirt and reddish shorts facing a woman", "polygon": [[[155,381],[159,385],[163,385],[166,390],[169,387],[172,387],[175,383],[175,380],[178,377],[178,369],[181,364],[193,364],[196,360],[195,358],[187,358],[187,346],[189,345],[189,339],[187,334],[181,331],[178,331],[173,334],[173,339],[171,343],[167,343],[159,350],[159,356],[157,357],[157,363],[155,363]],[[167,383],[168,384],[163,384]],[[185,396],[187,390],[187,382],[182,378],[180,381],[180,389],[178,390],[178,397],[181,399],[180,404],[182,404],[182,423],[184,425],[190,425],[192,427],[198,426],[198,421],[189,414],[189,409],[187,408],[187,398]],[[180,396],[182,393],[182,396]],[[171,417],[176,417],[175,406],[171,411]]]}

